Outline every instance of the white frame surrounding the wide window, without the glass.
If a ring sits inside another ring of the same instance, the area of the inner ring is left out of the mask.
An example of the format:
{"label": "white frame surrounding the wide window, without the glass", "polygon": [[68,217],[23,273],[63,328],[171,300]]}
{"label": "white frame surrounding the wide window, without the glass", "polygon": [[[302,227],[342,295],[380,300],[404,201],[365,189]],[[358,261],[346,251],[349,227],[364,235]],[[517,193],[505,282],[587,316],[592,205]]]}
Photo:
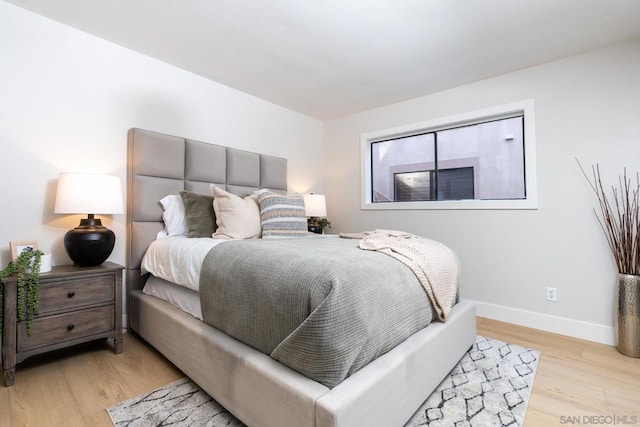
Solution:
{"label": "white frame surrounding the wide window, without the glass", "polygon": [[[526,199],[518,200],[431,200],[420,202],[378,202],[371,200],[371,145],[402,136],[416,135],[524,114],[524,162]],[[536,177],[535,103],[533,99],[471,111],[449,117],[363,133],[360,137],[361,188],[363,210],[404,209],[538,209]]]}

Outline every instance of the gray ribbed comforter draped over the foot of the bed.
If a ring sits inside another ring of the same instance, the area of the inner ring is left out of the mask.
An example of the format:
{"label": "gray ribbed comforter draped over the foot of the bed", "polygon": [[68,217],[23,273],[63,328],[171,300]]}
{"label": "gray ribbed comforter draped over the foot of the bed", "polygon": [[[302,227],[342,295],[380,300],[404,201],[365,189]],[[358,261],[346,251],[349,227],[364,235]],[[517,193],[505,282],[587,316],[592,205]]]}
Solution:
{"label": "gray ribbed comforter draped over the foot of the bed", "polygon": [[209,325],[334,387],[432,320],[415,274],[357,240],[241,240],[200,276]]}

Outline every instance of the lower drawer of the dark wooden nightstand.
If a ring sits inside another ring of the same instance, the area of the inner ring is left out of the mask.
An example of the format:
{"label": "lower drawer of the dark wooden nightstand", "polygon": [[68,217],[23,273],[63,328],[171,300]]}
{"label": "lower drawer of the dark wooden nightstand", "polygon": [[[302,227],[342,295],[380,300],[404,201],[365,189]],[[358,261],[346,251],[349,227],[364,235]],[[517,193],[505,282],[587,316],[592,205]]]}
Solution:
{"label": "lower drawer of the dark wooden nightstand", "polygon": [[71,341],[114,330],[113,305],[78,310],[33,321],[33,333],[27,335],[25,322],[18,322],[18,351]]}

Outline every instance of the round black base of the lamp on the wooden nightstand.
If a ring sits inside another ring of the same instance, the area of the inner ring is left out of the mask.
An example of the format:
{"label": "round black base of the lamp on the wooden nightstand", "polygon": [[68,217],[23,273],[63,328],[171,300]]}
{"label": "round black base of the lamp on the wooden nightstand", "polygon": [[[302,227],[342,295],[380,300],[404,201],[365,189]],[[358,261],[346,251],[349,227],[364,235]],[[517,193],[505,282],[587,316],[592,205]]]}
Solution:
{"label": "round black base of the lamp on the wooden nightstand", "polygon": [[93,218],[80,220],[80,225],[64,235],[64,248],[74,264],[80,267],[100,265],[109,258],[116,244],[116,235],[102,221]]}

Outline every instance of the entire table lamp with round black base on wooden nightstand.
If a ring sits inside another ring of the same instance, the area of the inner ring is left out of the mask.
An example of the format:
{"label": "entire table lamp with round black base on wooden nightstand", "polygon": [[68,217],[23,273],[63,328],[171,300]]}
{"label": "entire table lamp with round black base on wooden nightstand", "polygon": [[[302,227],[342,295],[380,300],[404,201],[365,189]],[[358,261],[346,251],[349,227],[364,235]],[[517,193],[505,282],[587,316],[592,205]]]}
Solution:
{"label": "entire table lamp with round black base on wooden nightstand", "polygon": [[64,236],[64,247],[74,264],[100,265],[109,258],[116,243],[113,231],[95,214],[124,212],[120,178],[87,173],[61,173],[58,179],[57,214],[87,214],[80,225]]}

